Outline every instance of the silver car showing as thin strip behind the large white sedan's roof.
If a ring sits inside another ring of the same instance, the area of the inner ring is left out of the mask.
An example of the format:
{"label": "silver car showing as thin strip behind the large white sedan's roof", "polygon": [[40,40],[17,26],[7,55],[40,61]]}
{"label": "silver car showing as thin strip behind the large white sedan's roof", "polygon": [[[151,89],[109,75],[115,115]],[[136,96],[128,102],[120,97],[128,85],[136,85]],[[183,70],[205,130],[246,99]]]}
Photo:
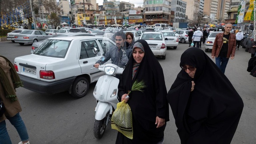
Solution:
{"label": "silver car showing as thin strip behind the large white sedan's roof", "polygon": [[[91,35],[91,34],[88,34],[88,33],[60,33],[60,34],[54,35],[52,37],[67,37],[67,36],[94,36],[94,35]],[[49,37],[49,38],[51,38],[51,37]],[[39,42],[34,42],[32,44],[31,53],[33,53],[47,39],[45,39],[43,41],[39,41]]]}

